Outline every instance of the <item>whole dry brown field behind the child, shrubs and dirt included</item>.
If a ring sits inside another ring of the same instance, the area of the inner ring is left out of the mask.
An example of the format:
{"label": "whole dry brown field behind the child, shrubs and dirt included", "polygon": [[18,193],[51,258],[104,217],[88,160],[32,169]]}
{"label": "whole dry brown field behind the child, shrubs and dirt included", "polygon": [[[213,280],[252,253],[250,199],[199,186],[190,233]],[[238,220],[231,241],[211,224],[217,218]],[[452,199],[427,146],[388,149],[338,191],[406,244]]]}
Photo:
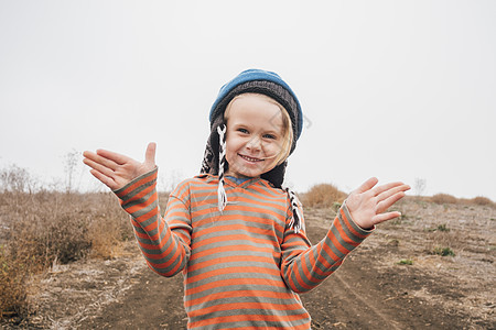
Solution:
{"label": "whole dry brown field behind the child, shrubs and dirt included", "polygon": [[[345,197],[333,189],[301,196],[313,243]],[[302,295],[313,328],[496,329],[494,202],[440,194],[395,208],[401,219]],[[181,276],[147,270],[111,194],[1,193],[0,266],[4,329],[185,327]]]}

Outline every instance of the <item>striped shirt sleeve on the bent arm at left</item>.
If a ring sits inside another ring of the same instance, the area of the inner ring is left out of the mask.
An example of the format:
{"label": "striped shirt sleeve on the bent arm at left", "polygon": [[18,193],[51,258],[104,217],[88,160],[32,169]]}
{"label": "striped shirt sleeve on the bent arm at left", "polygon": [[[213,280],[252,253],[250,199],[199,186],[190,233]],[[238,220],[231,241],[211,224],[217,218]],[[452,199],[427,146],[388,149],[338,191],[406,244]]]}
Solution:
{"label": "striped shirt sleeve on the bent arm at left", "polygon": [[[161,217],[157,174],[155,167],[114,193],[131,216],[134,237],[148,266],[169,277],[183,271],[190,258],[191,217],[185,202],[173,194],[169,198],[165,217]],[[169,218],[175,223],[174,229],[165,221]]]}

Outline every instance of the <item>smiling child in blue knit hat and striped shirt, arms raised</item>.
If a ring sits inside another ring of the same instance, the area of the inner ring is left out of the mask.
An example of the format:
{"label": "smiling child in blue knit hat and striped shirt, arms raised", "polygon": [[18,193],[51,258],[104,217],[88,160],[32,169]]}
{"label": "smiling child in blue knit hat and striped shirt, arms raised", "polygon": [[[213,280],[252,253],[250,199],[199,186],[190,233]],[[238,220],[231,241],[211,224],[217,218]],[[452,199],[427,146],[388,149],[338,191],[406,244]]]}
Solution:
{"label": "smiling child in blue knit hat and striped shirt, arms raised", "polygon": [[84,162],[131,215],[150,268],[183,273],[188,329],[310,329],[298,293],[336,271],[376,223],[399,217],[386,210],[410,187],[367,180],[312,246],[300,204],[281,187],[303,127],[291,88],[273,73],[242,72],[223,86],[209,120],[202,174],[174,189],[163,218],[154,143],[144,163],[104,150]]}

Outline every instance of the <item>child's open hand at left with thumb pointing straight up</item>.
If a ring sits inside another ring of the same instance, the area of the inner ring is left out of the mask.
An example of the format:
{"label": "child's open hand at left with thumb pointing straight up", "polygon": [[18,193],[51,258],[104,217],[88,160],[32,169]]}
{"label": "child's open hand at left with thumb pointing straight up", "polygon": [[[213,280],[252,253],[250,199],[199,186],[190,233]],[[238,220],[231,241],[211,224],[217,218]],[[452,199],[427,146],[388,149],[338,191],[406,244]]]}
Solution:
{"label": "child's open hand at left with thumb pointing straight up", "polygon": [[93,176],[116,190],[155,168],[155,143],[148,144],[143,163],[107,150],[97,150],[96,153],[85,151],[83,163],[91,167],[89,172]]}

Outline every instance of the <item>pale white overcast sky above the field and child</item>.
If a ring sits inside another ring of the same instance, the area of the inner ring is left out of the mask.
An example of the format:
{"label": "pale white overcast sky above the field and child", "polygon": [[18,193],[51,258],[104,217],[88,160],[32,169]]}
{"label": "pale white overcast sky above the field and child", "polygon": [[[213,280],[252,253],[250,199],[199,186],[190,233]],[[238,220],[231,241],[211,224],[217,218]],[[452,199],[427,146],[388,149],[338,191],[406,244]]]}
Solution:
{"label": "pale white overcast sky above the field and child", "polygon": [[[425,179],[496,200],[495,1],[0,0],[0,166],[64,177],[73,151],[197,174],[219,87],[277,72],[308,121],[287,183]],[[97,187],[78,169],[82,189]],[[414,191],[412,193],[414,194]]]}

